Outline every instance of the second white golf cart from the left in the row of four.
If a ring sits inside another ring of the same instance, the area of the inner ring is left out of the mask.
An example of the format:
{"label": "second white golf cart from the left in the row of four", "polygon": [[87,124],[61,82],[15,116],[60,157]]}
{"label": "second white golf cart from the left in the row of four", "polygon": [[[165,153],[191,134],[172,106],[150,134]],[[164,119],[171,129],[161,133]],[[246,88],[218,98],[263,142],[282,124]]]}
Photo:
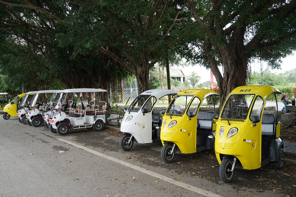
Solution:
{"label": "second white golf cart from the left in the row of four", "polygon": [[[27,124],[38,127],[44,121],[42,117],[42,111],[46,110],[45,101],[42,100],[42,96],[52,97],[54,92],[57,92],[57,89],[54,90],[41,90],[35,93],[31,103],[30,108],[26,110]],[[39,102],[39,99],[41,102]]]}

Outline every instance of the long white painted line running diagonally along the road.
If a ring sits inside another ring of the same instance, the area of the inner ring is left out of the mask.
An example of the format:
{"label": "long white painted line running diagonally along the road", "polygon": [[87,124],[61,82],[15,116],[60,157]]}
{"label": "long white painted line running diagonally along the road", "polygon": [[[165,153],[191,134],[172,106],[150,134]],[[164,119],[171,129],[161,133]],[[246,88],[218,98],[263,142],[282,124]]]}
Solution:
{"label": "long white painted line running diagonally along the road", "polygon": [[62,141],[62,142],[65,142],[65,143],[67,143],[67,144],[70,144],[70,145],[72,145],[72,146],[76,146],[76,147],[78,147],[78,148],[80,148],[80,149],[83,149],[83,150],[86,150],[86,151],[88,151],[88,152],[91,152],[91,153],[93,153],[93,154],[96,154],[96,155],[98,155],[98,156],[100,156],[100,157],[104,157],[105,159],[109,159],[109,160],[111,160],[111,161],[113,161],[113,162],[116,162],[116,163],[119,163],[119,164],[125,165],[125,166],[127,166],[127,167],[133,168],[134,170],[138,170],[138,171],[143,172],[143,173],[145,173],[145,174],[147,174],[147,175],[154,176],[154,177],[159,178],[159,179],[161,179],[161,180],[164,180],[164,181],[166,181],[166,182],[168,182],[168,183],[172,183],[172,184],[174,184],[174,185],[178,185],[178,186],[183,187],[183,188],[185,188],[185,189],[188,189],[188,190],[194,191],[194,192],[196,192],[196,193],[202,194],[202,195],[204,195],[204,196],[209,196],[209,197],[218,197],[218,196],[219,196],[219,195],[214,194],[214,193],[211,193],[211,192],[209,192],[209,191],[205,191],[205,190],[203,190],[203,189],[201,189],[201,188],[197,188],[197,187],[194,187],[194,186],[192,186],[192,185],[189,185],[189,184],[186,184],[186,183],[182,183],[182,182],[176,181],[176,180],[171,179],[171,178],[168,178],[168,177],[166,177],[166,176],[164,176],[164,175],[160,175],[160,174],[157,174],[157,173],[152,172],[152,171],[150,171],[150,170],[146,170],[146,169],[141,168],[141,167],[139,167],[139,166],[136,166],[136,165],[130,164],[130,163],[128,163],[128,162],[121,161],[120,159],[116,159],[116,158],[110,157],[110,156],[108,156],[108,155],[105,155],[105,154],[102,154],[102,153],[96,152],[96,151],[94,151],[94,150],[92,150],[92,149],[89,149],[89,148],[86,148],[86,147],[84,147],[84,146],[81,146],[81,145],[75,144],[75,143],[73,143],[73,142],[71,142],[71,141],[67,141],[67,140],[65,140],[65,139],[61,139],[61,138],[58,138],[58,140],[60,140],[60,141]]}

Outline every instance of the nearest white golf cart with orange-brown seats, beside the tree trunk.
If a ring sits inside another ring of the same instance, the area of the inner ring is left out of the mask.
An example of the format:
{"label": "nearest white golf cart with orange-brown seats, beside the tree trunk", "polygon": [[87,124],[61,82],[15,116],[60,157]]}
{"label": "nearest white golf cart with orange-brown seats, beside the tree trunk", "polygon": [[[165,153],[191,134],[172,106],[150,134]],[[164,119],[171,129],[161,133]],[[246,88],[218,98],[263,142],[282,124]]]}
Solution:
{"label": "nearest white golf cart with orange-brown seats, beside the tree trunk", "polygon": [[[107,90],[94,88],[63,90],[57,100],[57,104],[53,108],[53,112],[48,114],[49,129],[52,132],[56,130],[59,135],[67,135],[70,128],[93,128],[95,131],[101,131],[106,122],[106,102],[98,102],[97,105],[94,105],[95,101],[90,101],[89,104],[84,105],[81,96],[81,105],[78,106],[78,109],[75,109],[75,99],[73,100],[73,98],[77,98],[74,95],[91,95],[96,92],[107,92]],[[69,93],[72,93],[73,96],[69,97]],[[67,100],[67,96],[72,99]],[[74,103],[74,106],[69,104],[71,102],[72,104]]]}

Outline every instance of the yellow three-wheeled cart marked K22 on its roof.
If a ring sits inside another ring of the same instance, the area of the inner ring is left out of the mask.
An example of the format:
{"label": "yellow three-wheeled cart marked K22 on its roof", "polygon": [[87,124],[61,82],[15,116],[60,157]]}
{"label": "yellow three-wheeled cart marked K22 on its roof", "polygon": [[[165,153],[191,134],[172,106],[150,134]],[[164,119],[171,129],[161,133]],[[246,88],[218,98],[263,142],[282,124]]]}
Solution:
{"label": "yellow three-wheeled cart marked K22 on its roof", "polygon": [[[268,85],[240,86],[226,98],[217,121],[215,153],[224,183],[233,179],[234,168],[256,169],[273,161],[277,169],[284,166],[284,144],[277,119],[276,94]],[[275,106],[276,115],[263,113]]]}

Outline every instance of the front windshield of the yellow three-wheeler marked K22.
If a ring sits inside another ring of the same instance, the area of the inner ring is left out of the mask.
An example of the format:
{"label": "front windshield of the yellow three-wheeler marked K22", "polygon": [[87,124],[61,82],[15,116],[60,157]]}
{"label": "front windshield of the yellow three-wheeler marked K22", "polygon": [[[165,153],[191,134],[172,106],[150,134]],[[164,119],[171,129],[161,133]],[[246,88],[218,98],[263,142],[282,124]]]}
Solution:
{"label": "front windshield of the yellow three-wheeler marked K22", "polygon": [[221,118],[246,120],[254,94],[230,95],[221,114]]}

